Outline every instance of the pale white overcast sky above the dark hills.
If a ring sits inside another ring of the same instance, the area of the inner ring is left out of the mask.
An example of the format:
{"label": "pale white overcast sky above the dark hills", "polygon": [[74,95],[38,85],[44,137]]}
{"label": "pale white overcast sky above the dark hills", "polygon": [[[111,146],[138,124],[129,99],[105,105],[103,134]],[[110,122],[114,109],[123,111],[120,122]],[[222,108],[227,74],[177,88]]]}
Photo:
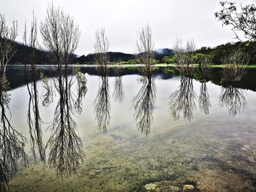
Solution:
{"label": "pale white overcast sky above the dark hills", "polygon": [[[40,22],[51,2],[0,0],[0,12],[7,23],[18,20],[18,42],[22,42],[23,26],[31,22],[32,10]],[[151,26],[155,49],[173,47],[176,38],[194,38],[197,48],[236,41],[230,28],[222,27],[214,17],[214,12],[221,9],[218,0],[53,0],[53,4],[69,12],[80,26],[80,43],[75,51],[78,55],[94,53],[94,31],[102,27],[110,51],[124,53],[135,53],[137,31],[147,24]]]}

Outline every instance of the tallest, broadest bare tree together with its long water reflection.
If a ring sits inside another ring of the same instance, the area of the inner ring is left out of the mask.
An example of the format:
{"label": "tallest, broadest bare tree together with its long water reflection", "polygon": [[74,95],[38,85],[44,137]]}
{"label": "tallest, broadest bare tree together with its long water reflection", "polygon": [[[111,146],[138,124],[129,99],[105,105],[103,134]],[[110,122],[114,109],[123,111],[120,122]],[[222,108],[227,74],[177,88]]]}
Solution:
{"label": "tallest, broadest bare tree together with its long water reflection", "polygon": [[[53,62],[57,66],[57,78],[53,83],[59,94],[59,102],[50,126],[52,134],[47,142],[47,147],[50,148],[48,162],[50,167],[56,169],[57,174],[62,177],[64,174],[76,172],[84,158],[82,141],[78,136],[76,123],[72,119],[75,99],[71,91],[72,77],[69,77],[68,71],[72,54],[78,47],[80,30],[72,17],[63,10],[56,9],[52,4],[48,7],[40,31],[43,43],[52,53]],[[85,79],[80,78],[80,80]]]}

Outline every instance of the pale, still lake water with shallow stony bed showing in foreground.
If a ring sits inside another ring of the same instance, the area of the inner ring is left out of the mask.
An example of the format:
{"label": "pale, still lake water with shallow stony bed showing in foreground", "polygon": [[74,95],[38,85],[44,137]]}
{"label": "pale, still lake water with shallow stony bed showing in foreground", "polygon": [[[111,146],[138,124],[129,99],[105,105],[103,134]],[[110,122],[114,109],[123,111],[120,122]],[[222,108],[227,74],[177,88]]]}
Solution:
{"label": "pale, still lake water with shallow stony bed showing in foreground", "polygon": [[[73,77],[69,114],[85,156],[69,175],[56,168],[59,155],[52,156],[56,164],[43,165],[36,151],[34,163],[29,93],[22,80],[11,84],[10,122],[26,137],[29,159],[26,168],[18,162],[20,170],[10,180],[13,191],[147,191],[150,183],[156,184],[154,191],[182,191],[185,184],[194,185],[195,191],[256,190],[256,85],[246,89],[246,83],[235,86],[162,72],[151,80],[132,73],[85,75],[87,91],[79,107],[74,107],[78,83]],[[59,122],[59,93],[54,91],[53,102],[42,106],[42,80],[37,89],[46,145]],[[80,152],[78,145],[72,146]],[[70,148],[64,146],[65,151]]]}

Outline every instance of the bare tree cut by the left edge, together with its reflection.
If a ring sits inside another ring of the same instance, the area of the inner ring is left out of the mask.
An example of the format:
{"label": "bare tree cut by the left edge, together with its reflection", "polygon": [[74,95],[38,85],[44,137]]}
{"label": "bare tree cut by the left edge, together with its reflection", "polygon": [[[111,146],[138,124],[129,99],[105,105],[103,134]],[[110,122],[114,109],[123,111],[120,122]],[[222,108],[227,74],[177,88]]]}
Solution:
{"label": "bare tree cut by the left edge, together with its reflection", "polygon": [[18,171],[18,161],[27,164],[23,149],[26,138],[11,124],[9,110],[9,82],[5,76],[7,65],[15,54],[17,22],[7,26],[4,15],[0,14],[0,191],[9,191],[8,180]]}

